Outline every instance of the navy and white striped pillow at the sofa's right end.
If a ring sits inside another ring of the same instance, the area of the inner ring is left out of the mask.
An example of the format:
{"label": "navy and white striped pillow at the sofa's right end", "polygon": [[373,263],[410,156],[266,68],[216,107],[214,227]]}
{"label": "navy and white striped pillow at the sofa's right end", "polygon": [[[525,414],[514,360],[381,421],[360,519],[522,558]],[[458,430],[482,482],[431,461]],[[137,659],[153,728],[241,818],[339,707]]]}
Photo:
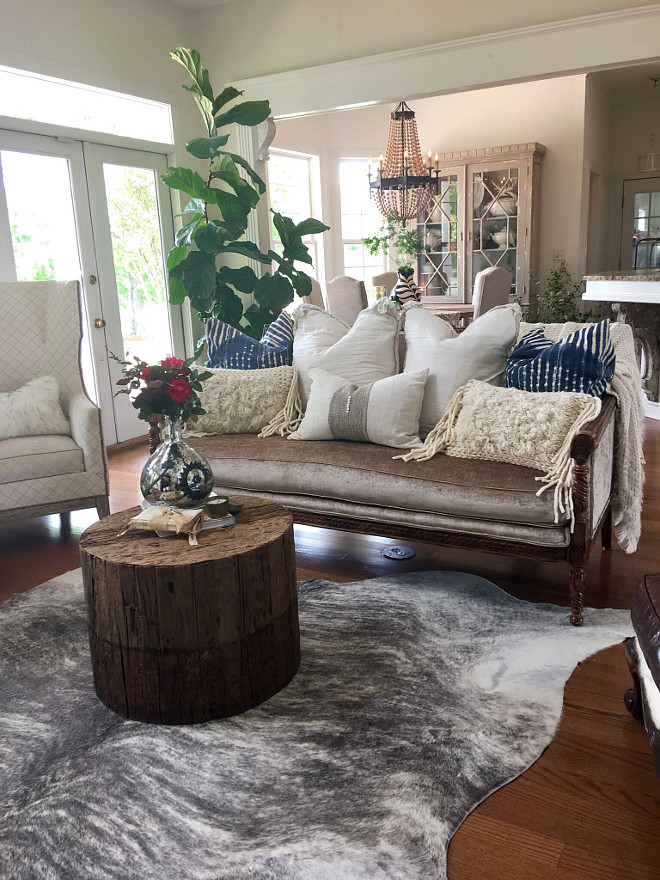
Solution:
{"label": "navy and white striped pillow at the sofa's right end", "polygon": [[505,385],[522,391],[579,391],[600,397],[614,375],[609,321],[587,324],[558,342],[530,330],[506,364]]}

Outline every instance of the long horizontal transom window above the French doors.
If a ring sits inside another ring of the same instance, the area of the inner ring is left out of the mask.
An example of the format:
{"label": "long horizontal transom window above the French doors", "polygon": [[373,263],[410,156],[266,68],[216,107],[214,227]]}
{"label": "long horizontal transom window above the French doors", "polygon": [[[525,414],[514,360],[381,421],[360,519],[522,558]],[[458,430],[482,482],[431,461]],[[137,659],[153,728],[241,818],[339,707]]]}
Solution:
{"label": "long horizontal transom window above the French doors", "polygon": [[0,116],[171,144],[169,104],[0,67]]}

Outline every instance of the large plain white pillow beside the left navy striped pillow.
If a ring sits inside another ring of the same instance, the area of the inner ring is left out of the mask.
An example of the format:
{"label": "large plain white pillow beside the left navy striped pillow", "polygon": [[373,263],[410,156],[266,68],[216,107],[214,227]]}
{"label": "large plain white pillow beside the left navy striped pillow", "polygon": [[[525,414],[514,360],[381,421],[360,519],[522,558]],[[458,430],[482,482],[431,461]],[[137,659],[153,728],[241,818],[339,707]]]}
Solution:
{"label": "large plain white pillow beside the left navy striped pillow", "polygon": [[[307,306],[306,308],[311,307]],[[342,327],[346,326],[343,322],[338,322],[337,318],[332,318],[327,312],[321,312],[321,314]],[[294,325],[295,321],[294,318]],[[307,321],[309,321],[309,317],[307,317]],[[311,353],[312,346],[308,340],[303,339],[299,342],[298,356],[296,356],[296,341],[300,336],[301,327],[304,332],[304,323],[299,320],[294,330],[293,367],[300,377],[300,396],[303,405],[306,404],[309,396],[309,370],[314,367],[326,370],[335,376],[341,376],[357,385],[377,382],[379,379],[393,376],[398,372],[400,315],[394,303],[387,299],[379,299],[373,305],[363,309],[357,316],[355,324],[325,349],[321,348],[319,344],[321,341],[321,334],[318,331],[320,323],[321,321],[316,318],[315,355],[307,358],[305,364],[302,363],[300,356],[300,346],[301,344],[305,346],[306,354]],[[339,328],[333,328],[325,320],[323,329],[327,338],[333,329],[334,332],[338,332]]]}

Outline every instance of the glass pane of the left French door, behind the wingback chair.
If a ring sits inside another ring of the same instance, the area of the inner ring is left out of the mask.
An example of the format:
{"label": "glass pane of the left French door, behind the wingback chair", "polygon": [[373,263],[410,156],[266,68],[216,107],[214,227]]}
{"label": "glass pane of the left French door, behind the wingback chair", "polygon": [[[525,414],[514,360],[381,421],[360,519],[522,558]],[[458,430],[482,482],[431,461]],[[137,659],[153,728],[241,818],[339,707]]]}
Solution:
{"label": "glass pane of the left French door, behind the wingback chair", "polygon": [[[61,156],[0,150],[2,182],[17,281],[73,281],[81,277],[69,161]],[[84,308],[84,303],[83,303]],[[91,346],[83,315],[82,373],[97,401]]]}

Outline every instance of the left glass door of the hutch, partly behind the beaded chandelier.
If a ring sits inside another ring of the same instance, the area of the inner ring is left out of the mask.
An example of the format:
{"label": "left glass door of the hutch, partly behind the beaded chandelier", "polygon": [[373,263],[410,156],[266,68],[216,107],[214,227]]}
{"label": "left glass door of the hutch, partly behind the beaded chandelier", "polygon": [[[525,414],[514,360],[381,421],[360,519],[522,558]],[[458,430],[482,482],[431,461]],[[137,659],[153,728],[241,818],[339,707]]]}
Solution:
{"label": "left glass door of the hutch, partly behind the beaded chandelier", "polygon": [[420,216],[424,238],[419,258],[419,286],[427,296],[464,301],[464,168],[447,169],[438,177],[438,194]]}

